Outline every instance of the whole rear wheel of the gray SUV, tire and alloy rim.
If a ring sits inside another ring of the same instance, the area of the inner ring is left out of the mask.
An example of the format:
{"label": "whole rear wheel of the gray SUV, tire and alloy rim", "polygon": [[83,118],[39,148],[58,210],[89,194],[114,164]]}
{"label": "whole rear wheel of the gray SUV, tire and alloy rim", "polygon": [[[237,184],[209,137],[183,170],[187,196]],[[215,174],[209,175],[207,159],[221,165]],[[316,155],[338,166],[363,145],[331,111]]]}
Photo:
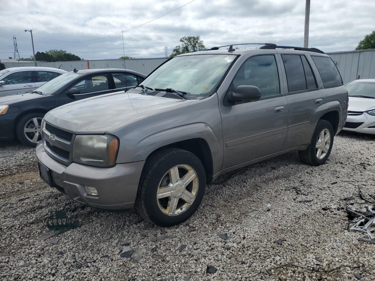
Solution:
{"label": "whole rear wheel of the gray SUV, tire and alloy rim", "polygon": [[312,166],[324,164],[331,153],[333,137],[332,124],[327,120],[319,120],[308,148],[298,152],[300,160]]}

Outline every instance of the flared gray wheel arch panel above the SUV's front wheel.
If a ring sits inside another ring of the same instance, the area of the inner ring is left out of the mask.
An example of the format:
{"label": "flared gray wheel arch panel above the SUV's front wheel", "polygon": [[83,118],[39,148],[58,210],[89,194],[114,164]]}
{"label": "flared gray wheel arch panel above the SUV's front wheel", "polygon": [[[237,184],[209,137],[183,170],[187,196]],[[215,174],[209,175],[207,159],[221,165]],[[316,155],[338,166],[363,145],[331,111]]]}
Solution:
{"label": "flared gray wheel arch panel above the SUV's front wheel", "polygon": [[217,172],[221,169],[223,161],[222,143],[208,124],[200,122],[172,127],[148,135],[136,143],[133,148],[126,149],[125,154],[118,155],[117,163],[144,161],[148,155],[158,148],[197,138],[204,139],[207,142],[212,155],[213,172]]}

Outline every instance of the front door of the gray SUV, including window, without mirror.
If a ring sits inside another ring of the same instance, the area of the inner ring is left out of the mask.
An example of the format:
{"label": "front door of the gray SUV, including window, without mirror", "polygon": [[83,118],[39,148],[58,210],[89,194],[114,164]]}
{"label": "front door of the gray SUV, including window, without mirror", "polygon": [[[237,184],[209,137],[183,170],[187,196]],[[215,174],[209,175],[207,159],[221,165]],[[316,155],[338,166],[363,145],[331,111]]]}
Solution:
{"label": "front door of the gray SUV, including window, without mirror", "polygon": [[220,106],[223,126],[222,169],[279,152],[287,136],[288,103],[280,91],[281,75],[275,55],[256,55],[246,60],[228,89],[254,85],[261,99]]}

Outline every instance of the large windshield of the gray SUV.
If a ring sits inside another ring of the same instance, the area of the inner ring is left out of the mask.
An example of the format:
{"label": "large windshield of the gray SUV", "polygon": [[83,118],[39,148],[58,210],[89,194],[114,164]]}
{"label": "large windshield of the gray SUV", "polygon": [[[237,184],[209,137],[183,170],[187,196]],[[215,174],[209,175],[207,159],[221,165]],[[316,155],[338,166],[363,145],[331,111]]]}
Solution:
{"label": "large windshield of the gray SUV", "polygon": [[172,88],[191,96],[208,97],[236,58],[235,55],[207,54],[175,57],[156,69],[142,85]]}

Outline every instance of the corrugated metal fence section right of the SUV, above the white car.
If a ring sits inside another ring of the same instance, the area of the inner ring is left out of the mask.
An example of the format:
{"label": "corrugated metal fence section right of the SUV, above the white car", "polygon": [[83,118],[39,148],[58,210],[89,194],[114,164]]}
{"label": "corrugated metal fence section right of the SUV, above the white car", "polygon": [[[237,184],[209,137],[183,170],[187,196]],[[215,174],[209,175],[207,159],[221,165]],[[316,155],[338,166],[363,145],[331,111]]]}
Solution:
{"label": "corrugated metal fence section right of the SUV, above the white car", "polygon": [[361,79],[375,78],[375,49],[327,53],[336,63],[344,84]]}

